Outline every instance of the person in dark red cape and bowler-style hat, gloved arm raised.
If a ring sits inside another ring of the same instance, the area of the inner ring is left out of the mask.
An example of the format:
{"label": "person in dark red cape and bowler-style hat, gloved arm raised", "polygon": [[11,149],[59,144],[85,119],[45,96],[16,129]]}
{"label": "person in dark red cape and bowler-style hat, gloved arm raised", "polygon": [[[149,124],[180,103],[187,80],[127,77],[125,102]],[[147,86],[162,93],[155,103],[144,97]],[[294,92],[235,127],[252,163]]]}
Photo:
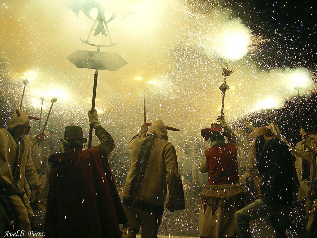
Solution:
{"label": "person in dark red cape and bowler-style hat, gloved arm raised", "polygon": [[101,143],[83,150],[87,139],[82,128],[67,126],[60,140],[65,152],[49,157],[45,237],[119,238],[119,224],[127,222],[108,163],[113,138],[98,122],[96,110],[88,117]]}

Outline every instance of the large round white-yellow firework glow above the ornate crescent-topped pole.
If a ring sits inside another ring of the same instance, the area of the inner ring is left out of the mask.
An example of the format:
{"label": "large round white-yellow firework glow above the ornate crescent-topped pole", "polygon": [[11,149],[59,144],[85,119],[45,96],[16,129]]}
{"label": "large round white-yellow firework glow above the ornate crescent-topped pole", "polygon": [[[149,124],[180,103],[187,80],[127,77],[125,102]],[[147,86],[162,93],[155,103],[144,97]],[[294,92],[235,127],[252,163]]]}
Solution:
{"label": "large round white-yellow firework glow above the ornate crescent-topped pole", "polygon": [[219,30],[214,48],[224,58],[237,60],[248,52],[250,42],[249,28],[238,21],[232,21]]}

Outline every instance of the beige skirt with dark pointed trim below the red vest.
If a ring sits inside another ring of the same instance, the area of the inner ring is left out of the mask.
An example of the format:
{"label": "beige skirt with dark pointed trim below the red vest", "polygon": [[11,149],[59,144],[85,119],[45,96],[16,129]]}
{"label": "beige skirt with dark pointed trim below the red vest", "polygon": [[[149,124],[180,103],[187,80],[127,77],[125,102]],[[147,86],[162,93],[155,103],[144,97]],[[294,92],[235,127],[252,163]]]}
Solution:
{"label": "beige skirt with dark pointed trim below the red vest", "polygon": [[236,237],[234,214],[250,203],[239,183],[206,185],[201,192],[199,235],[202,238]]}

